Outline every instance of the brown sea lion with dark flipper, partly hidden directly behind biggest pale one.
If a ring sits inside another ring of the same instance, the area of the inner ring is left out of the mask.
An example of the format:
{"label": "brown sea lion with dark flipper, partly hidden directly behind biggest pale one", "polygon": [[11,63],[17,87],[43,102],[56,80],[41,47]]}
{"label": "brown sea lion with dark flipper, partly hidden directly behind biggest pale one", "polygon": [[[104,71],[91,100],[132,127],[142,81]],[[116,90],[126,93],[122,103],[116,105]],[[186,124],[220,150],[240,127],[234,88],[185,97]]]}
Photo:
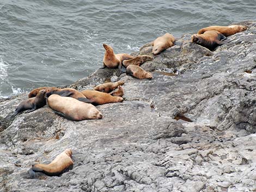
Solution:
{"label": "brown sea lion with dark flipper, partly hidden directly behind biggest pale one", "polygon": [[90,103],[90,100],[86,98],[81,92],[71,89],[71,88],[64,88],[64,89],[47,89],[45,97],[48,98],[52,94],[57,94],[63,97],[72,97],[76,98],[79,101],[85,102],[85,103]]}

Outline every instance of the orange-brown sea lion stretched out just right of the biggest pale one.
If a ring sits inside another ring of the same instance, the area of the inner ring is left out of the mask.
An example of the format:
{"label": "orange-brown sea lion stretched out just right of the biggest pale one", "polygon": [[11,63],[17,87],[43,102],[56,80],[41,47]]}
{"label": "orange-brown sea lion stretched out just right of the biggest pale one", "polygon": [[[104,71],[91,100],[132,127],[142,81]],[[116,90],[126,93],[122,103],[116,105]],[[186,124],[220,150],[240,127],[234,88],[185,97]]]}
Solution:
{"label": "orange-brown sea lion stretched out just right of the biggest pale one", "polygon": [[106,94],[105,92],[95,90],[83,90],[81,91],[81,93],[90,100],[92,100],[92,103],[95,104],[117,103],[124,101],[122,97],[112,96],[110,94]]}

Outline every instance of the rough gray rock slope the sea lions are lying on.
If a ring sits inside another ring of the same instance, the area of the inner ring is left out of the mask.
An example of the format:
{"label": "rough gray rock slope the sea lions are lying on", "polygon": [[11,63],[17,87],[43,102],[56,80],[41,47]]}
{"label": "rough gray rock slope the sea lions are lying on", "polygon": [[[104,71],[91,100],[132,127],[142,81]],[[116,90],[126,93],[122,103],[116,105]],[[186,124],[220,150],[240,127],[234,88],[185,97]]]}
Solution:
{"label": "rough gray rock slope the sea lions are lying on", "polygon": [[[125,81],[123,103],[97,106],[101,120],[69,121],[47,106],[9,119],[27,94],[1,100],[0,191],[255,191],[256,22],[243,24],[214,52],[182,36],[142,65],[151,80],[101,69],[70,85]],[[72,170],[27,178],[65,148]]]}

